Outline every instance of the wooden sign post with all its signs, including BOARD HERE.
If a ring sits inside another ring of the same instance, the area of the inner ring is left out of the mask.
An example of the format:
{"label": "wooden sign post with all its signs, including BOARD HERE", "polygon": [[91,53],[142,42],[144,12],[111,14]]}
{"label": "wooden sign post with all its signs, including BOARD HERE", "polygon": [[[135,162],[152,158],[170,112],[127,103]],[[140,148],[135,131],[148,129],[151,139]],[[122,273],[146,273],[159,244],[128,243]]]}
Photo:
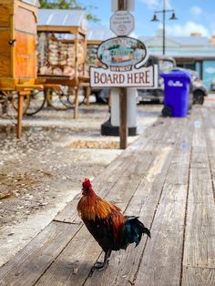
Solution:
{"label": "wooden sign post with all its signs, including BOARD HERE", "polygon": [[[144,66],[148,53],[144,43],[129,37],[134,29],[134,0],[112,0],[115,14],[110,28],[117,35],[101,43],[97,57],[102,67],[90,66],[91,87],[119,87],[120,148],[128,145],[128,88],[158,87],[158,66]],[[130,111],[130,110],[129,110]]]}

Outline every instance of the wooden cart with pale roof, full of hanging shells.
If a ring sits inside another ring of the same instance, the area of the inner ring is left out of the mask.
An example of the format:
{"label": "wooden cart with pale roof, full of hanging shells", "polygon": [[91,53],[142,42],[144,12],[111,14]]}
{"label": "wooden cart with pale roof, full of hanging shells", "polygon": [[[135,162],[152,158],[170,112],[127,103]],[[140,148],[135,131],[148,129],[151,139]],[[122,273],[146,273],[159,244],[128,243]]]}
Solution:
{"label": "wooden cart with pale roof, full of hanging shells", "polygon": [[[74,117],[76,118],[79,88],[89,86],[85,66],[87,54],[85,13],[72,10],[40,9],[38,20],[37,82],[45,86],[74,87]],[[79,47],[82,47],[82,52],[78,53]]]}

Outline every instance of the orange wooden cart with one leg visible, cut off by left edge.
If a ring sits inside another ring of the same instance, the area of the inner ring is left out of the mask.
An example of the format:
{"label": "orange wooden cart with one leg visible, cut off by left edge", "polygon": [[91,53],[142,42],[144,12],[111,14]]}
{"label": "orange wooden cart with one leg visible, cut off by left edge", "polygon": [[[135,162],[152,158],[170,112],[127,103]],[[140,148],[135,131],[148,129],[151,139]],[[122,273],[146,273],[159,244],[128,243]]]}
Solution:
{"label": "orange wooden cart with one leg visible, cut off by left edge", "polygon": [[36,79],[37,0],[0,0],[0,91],[17,91],[18,127],[21,137],[24,96]]}

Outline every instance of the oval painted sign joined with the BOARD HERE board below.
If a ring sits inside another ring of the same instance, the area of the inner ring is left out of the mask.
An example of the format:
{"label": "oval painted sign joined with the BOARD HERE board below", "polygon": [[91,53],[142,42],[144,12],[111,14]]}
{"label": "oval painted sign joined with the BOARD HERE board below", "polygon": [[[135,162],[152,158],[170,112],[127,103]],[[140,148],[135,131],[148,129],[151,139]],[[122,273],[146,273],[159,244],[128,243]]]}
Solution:
{"label": "oval painted sign joined with the BOARD HERE board below", "polygon": [[91,87],[158,87],[158,66],[143,66],[146,46],[135,38],[108,39],[97,49],[104,67],[90,66]]}

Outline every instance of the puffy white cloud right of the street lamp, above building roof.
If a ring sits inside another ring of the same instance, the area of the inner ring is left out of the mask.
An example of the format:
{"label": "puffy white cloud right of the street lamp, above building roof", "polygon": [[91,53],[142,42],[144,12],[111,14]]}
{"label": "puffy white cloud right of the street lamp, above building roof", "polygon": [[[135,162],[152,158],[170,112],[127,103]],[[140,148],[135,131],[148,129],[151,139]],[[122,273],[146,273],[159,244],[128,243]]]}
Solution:
{"label": "puffy white cloud right of the street lamp, above building roof", "polygon": [[200,33],[201,36],[210,36],[209,30],[205,26],[191,21],[184,25],[167,26],[166,30],[169,36],[190,36],[191,33]]}

